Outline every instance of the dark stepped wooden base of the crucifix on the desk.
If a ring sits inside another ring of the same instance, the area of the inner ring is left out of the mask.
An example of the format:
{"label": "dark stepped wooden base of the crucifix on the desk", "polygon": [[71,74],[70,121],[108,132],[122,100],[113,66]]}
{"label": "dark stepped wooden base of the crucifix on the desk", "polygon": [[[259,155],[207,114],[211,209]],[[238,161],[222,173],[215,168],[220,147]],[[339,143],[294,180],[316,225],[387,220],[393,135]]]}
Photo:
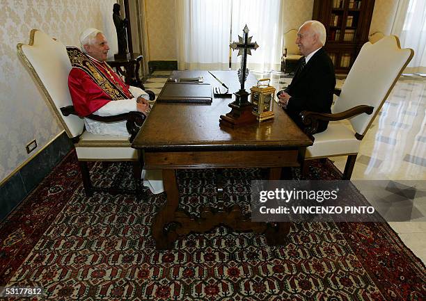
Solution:
{"label": "dark stepped wooden base of the crucifix on the desk", "polygon": [[235,93],[236,100],[228,104],[232,110],[226,115],[221,115],[219,125],[225,127],[241,127],[246,124],[253,124],[258,122],[255,115],[253,115],[253,104],[249,102],[248,95],[250,93],[246,90],[239,90]]}

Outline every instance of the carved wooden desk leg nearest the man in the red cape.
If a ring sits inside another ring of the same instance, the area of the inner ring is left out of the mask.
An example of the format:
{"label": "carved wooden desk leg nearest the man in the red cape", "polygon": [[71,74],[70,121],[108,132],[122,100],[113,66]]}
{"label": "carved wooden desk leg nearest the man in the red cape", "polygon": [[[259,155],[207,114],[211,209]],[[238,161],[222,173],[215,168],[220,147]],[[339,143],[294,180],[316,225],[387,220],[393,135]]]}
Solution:
{"label": "carved wooden desk leg nearest the man in the red cape", "polygon": [[163,170],[163,181],[167,202],[155,217],[155,221],[152,224],[152,236],[155,239],[157,250],[170,250],[177,238],[177,234],[168,231],[165,227],[173,220],[179,204],[179,190],[175,170]]}

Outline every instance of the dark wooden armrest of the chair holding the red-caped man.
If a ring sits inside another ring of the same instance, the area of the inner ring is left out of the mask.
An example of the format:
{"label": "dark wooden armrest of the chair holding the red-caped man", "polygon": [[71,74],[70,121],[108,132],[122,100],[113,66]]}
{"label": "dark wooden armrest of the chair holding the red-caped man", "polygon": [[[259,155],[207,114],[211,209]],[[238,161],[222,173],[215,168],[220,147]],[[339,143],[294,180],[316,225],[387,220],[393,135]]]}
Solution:
{"label": "dark wooden armrest of the chair holding the red-caped man", "polygon": [[[74,106],[64,106],[61,108],[61,112],[64,116],[68,115],[77,115],[77,112],[74,109]],[[132,111],[129,113],[123,113],[118,115],[112,115],[112,116],[99,116],[90,114],[87,115],[86,118],[89,118],[91,120],[99,121],[99,122],[118,122],[118,121],[125,121],[126,122],[126,128],[127,132],[130,134],[130,142],[133,141],[134,137],[136,137],[136,134],[139,131],[139,128],[142,126],[143,122],[146,119],[146,116],[138,111]]]}

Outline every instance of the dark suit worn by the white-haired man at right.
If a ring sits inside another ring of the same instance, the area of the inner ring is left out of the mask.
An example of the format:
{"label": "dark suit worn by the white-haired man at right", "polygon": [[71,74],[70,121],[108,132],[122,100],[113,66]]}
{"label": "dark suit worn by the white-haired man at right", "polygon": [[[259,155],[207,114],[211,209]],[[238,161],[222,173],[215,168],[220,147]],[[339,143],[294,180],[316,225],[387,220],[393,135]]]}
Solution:
{"label": "dark suit worn by the white-haired man at right", "polygon": [[[299,114],[301,111],[331,113],[333,90],[336,86],[333,62],[326,54],[324,47],[310,58],[303,70],[300,70],[301,58],[298,62],[292,83],[285,89],[291,98],[285,111],[304,129]],[[317,133],[325,131],[329,122],[319,122]]]}

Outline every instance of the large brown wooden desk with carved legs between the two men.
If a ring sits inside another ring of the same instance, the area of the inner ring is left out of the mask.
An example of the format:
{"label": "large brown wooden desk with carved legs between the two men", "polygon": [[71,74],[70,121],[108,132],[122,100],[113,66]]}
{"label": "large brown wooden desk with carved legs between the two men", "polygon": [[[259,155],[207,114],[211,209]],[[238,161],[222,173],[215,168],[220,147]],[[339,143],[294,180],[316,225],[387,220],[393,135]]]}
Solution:
{"label": "large brown wooden desk with carved legs between the two men", "polygon": [[[239,90],[236,72],[213,72],[230,92]],[[203,76],[205,83],[220,84],[207,72],[173,72],[177,77]],[[254,86],[249,76],[246,90]],[[235,100],[213,99],[211,105],[157,103],[132,143],[139,149],[144,168],[163,170],[167,203],[152,225],[152,236],[159,250],[171,249],[176,238],[189,232],[204,233],[217,225],[235,231],[255,231],[265,234],[271,245],[283,244],[290,223],[266,224],[251,222],[239,206],[207,209],[200,218],[178,210],[179,190],[176,170],[182,168],[269,168],[269,179],[280,179],[281,167],[299,166],[306,147],[312,141],[285,112],[275,106],[275,118],[237,129],[219,127],[219,116],[230,111]],[[177,225],[168,227],[171,223]]]}

